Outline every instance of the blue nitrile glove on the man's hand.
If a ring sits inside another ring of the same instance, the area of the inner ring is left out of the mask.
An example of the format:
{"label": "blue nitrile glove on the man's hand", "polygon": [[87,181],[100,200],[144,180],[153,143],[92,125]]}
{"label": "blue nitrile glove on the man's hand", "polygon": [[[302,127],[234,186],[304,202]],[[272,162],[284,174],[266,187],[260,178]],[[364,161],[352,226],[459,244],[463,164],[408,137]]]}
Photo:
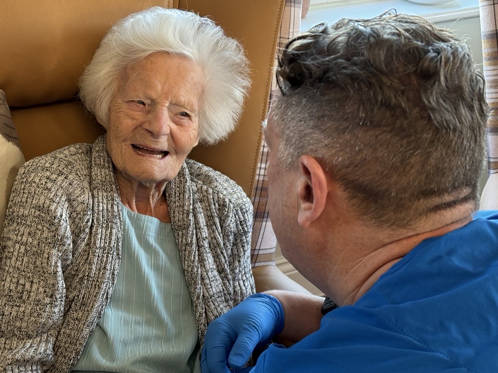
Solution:
{"label": "blue nitrile glove on the man's hand", "polygon": [[[284,313],[277,298],[256,293],[208,325],[202,348],[202,373],[241,369],[257,346],[282,331]],[[249,372],[251,368],[242,372]]]}

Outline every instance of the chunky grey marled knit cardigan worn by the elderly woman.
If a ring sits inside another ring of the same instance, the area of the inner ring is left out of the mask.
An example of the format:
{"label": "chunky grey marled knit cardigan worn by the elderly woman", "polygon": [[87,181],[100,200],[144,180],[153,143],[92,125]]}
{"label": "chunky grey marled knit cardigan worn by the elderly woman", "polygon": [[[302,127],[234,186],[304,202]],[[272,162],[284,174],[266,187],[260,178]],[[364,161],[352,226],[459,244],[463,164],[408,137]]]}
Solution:
{"label": "chunky grey marled knit cardigan worn by the elderly woman", "polygon": [[[207,324],[254,292],[252,205],[187,160],[165,189],[202,346]],[[0,371],[70,372],[112,294],[120,194],[105,135],[27,162],[0,242]]]}

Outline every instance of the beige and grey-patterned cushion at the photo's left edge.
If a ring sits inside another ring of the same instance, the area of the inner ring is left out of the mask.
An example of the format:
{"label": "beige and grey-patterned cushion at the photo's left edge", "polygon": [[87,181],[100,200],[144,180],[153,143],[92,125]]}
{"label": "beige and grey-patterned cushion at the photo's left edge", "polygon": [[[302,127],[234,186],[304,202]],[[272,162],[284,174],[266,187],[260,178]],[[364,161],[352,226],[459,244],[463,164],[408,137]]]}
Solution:
{"label": "beige and grey-patterned cushion at the photo's left edge", "polygon": [[19,137],[10,117],[5,93],[0,90],[0,232],[3,227],[10,189],[24,163]]}

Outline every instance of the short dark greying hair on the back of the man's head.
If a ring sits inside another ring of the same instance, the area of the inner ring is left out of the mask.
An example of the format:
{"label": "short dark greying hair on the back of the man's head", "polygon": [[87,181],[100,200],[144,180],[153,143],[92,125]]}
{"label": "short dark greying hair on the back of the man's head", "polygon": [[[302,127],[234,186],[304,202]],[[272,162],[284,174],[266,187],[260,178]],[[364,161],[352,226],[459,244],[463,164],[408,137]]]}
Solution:
{"label": "short dark greying hair on the back of the man's head", "polygon": [[450,31],[405,14],[342,19],[290,41],[279,62],[272,118],[286,167],[314,156],[378,226],[476,205],[484,79]]}

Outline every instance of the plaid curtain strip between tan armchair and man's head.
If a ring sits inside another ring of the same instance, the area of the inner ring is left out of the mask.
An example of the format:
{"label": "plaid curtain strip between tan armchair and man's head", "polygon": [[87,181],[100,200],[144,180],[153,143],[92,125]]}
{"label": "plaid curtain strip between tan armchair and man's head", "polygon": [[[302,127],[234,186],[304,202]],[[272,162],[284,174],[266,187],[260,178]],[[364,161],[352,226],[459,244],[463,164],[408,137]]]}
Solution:
{"label": "plaid curtain strip between tan armchair and man's head", "polygon": [[[278,51],[299,32],[301,26],[302,0],[285,0],[282,22],[278,36]],[[276,64],[276,55],[275,55]],[[277,89],[275,76],[271,81],[270,102]],[[254,221],[251,238],[251,264],[252,267],[275,265],[276,237],[271,227],[268,216],[268,181],[266,165],[268,162],[268,148],[265,142],[261,144],[258,167],[255,175],[254,189],[252,191],[252,204],[254,206]]]}

